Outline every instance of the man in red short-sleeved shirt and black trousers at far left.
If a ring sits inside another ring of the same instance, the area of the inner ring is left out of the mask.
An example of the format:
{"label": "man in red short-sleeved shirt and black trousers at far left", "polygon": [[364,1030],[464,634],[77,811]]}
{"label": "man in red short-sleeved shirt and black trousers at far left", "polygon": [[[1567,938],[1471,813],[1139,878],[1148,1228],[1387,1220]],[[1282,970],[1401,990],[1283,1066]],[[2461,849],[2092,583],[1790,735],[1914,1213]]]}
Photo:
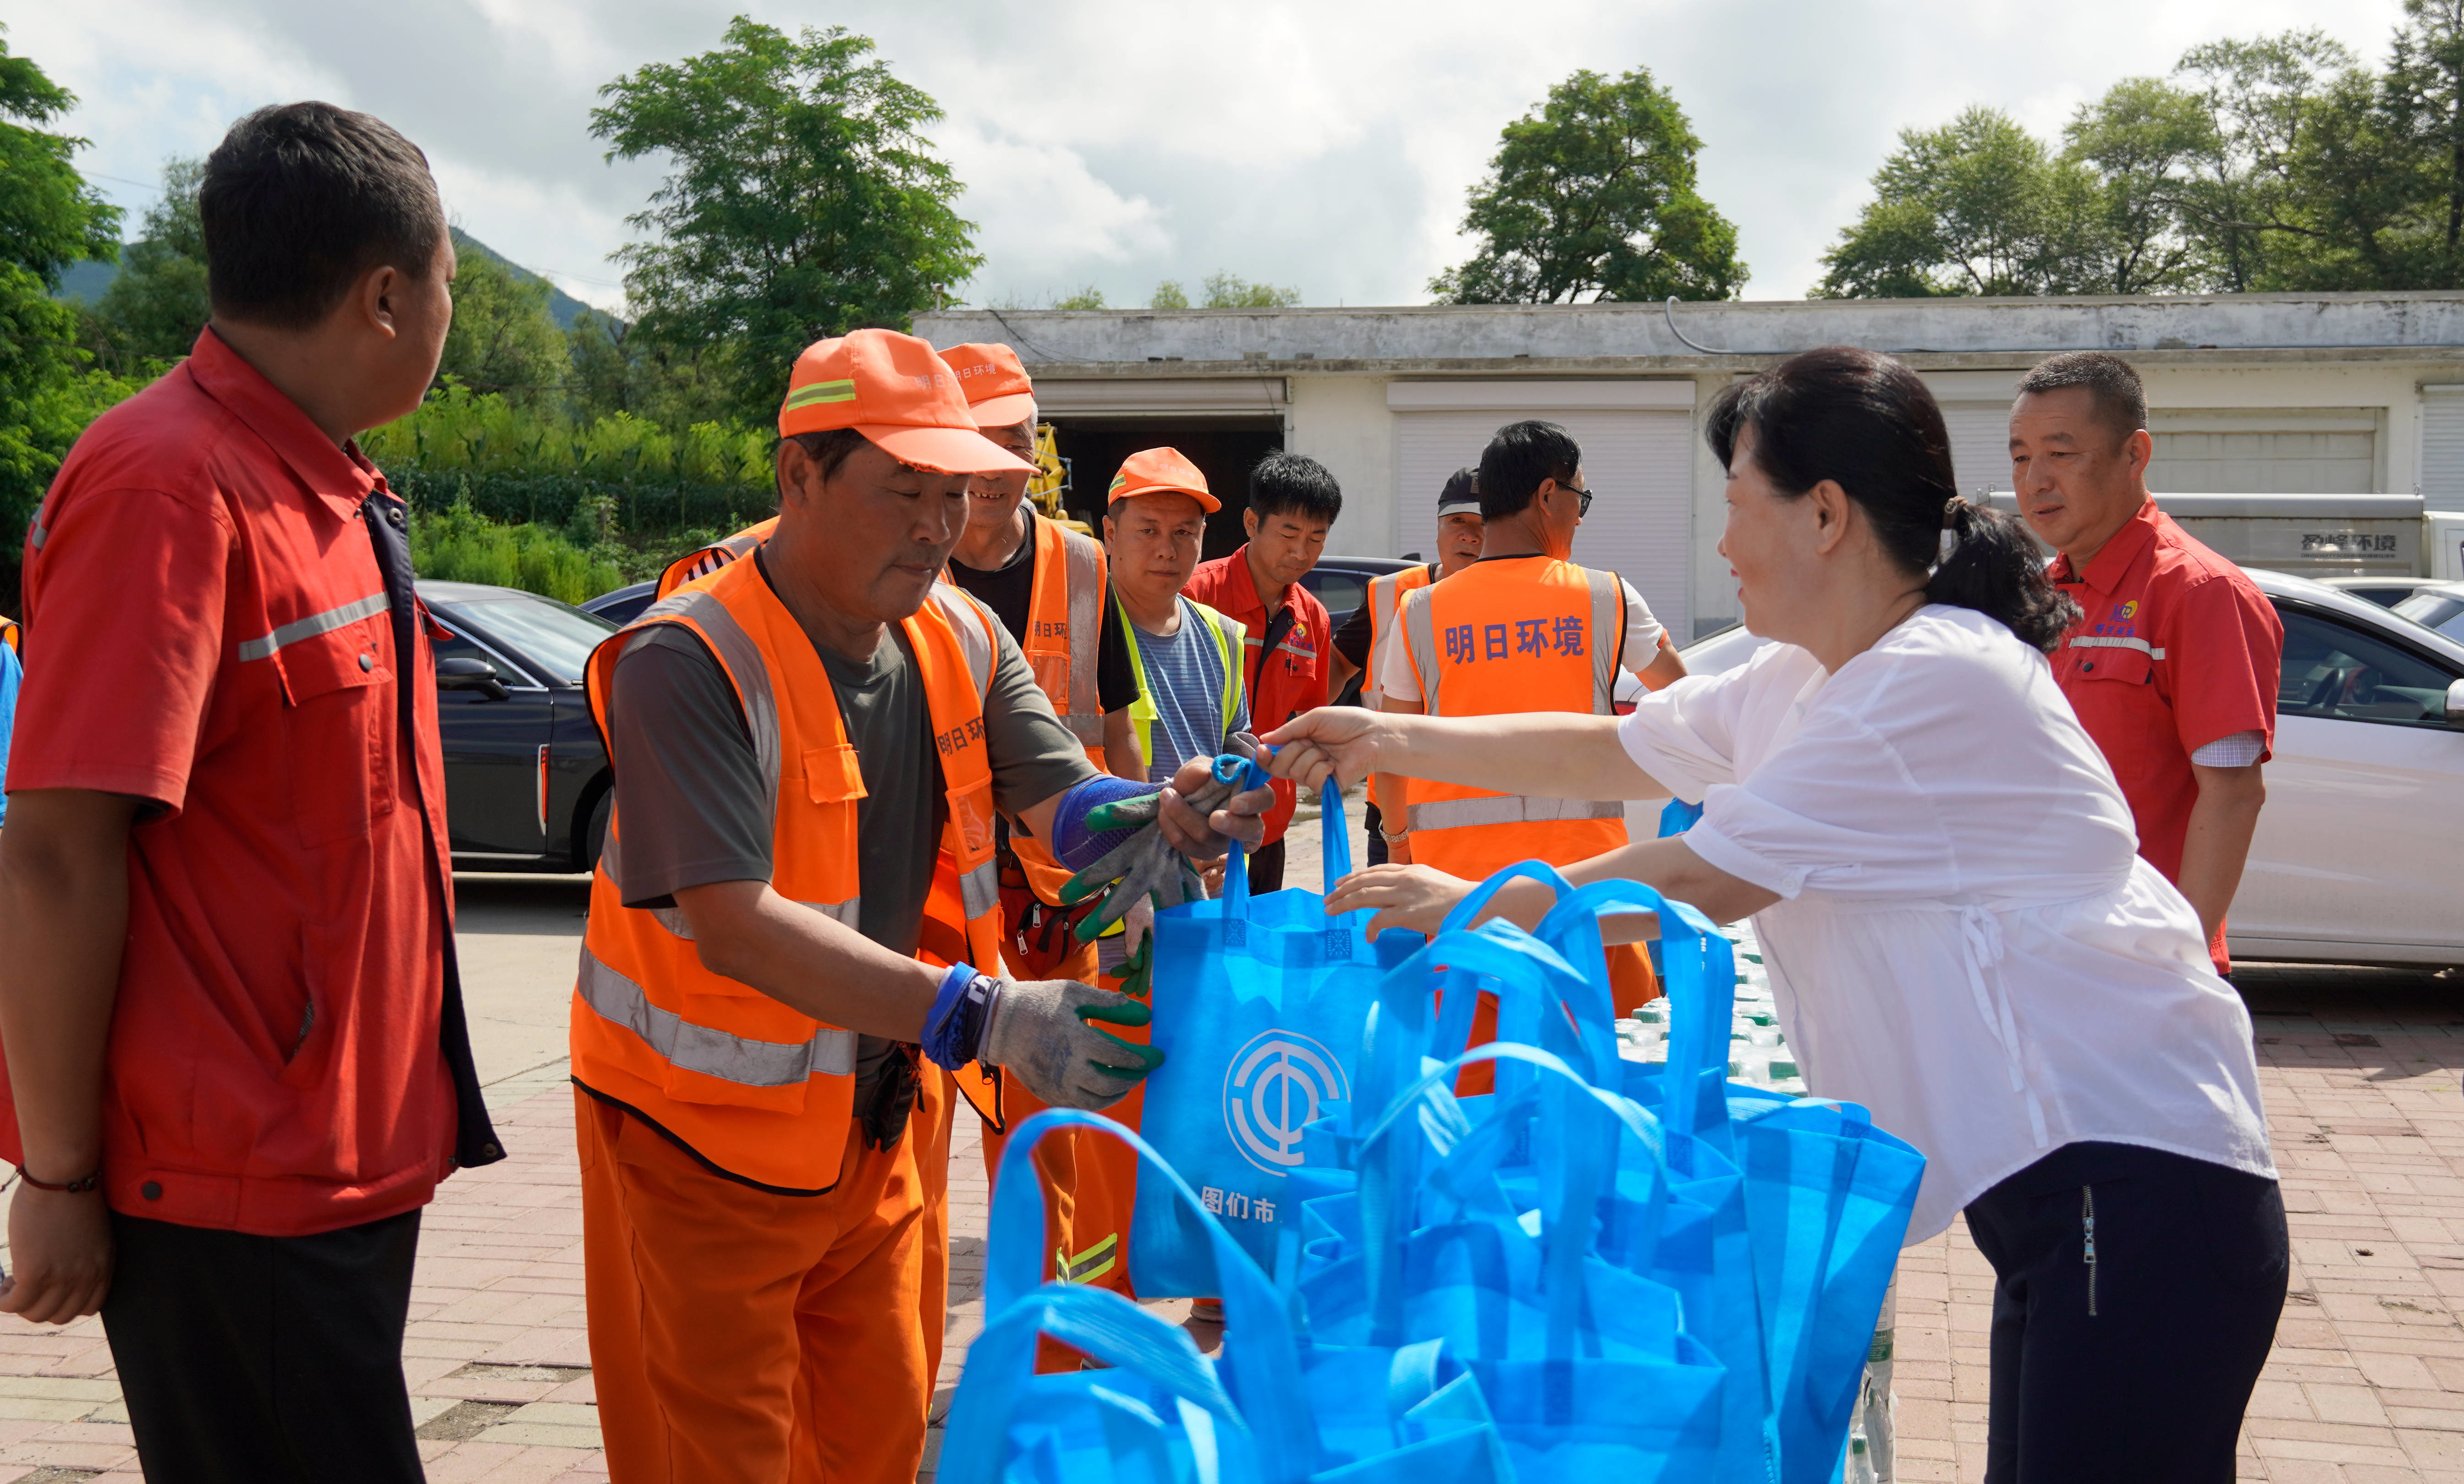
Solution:
{"label": "man in red short-sleeved shirt and black trousers at far left", "polygon": [[103,1314],[148,1479],[414,1482],[419,1208],[503,1159],[453,971],[407,510],[352,446],[453,318],[426,158],[261,108],[205,163],[209,328],[25,552],[0,836],[0,1311]]}

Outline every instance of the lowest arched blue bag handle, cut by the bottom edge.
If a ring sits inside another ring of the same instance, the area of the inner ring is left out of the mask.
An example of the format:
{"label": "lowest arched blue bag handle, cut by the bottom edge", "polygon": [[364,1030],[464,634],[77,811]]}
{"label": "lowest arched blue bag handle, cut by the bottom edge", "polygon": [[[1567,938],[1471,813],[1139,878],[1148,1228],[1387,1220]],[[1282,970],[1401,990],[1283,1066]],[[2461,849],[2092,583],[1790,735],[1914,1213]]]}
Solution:
{"label": "lowest arched blue bag handle, cut by the bottom edge", "polygon": [[[1215,1454],[1215,1477],[1225,1482],[1257,1479],[1249,1425],[1188,1331],[1138,1309],[1121,1294],[1079,1284],[1047,1284],[1020,1297],[995,1314],[968,1346],[968,1376],[951,1403],[951,1425],[941,1447],[944,1479],[951,1484],[1000,1484],[1010,1417],[1032,1385],[1040,1334],[1178,1398],[1190,1447],[1200,1457]],[[1193,1413],[1202,1413],[1215,1425],[1210,1427]],[[1225,1447],[1227,1442],[1232,1447]]]}

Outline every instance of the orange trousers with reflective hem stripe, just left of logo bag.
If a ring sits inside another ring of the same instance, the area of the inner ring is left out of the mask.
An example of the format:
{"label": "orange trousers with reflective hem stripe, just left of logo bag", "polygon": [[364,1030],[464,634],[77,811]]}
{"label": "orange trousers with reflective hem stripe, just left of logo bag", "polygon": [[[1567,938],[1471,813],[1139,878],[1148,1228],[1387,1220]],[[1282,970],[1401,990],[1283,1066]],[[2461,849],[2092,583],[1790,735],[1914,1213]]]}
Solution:
{"label": "orange trousers with reflective hem stripe, just left of logo bag", "polygon": [[[1062,959],[1052,979],[1121,989],[1116,979],[1096,974],[1096,944],[1082,944]],[[1146,1043],[1146,1025],[1104,1025],[1104,1030],[1121,1040]],[[1003,1085],[1000,1102],[1013,1129],[1027,1114],[1047,1107],[1018,1077]],[[1141,1107],[1146,1107],[1146,1085],[1106,1107],[1104,1117],[1136,1129]],[[995,1191],[1003,1149],[1008,1149],[1008,1136],[986,1129],[983,1173]],[[1129,1213],[1138,1201],[1138,1156],[1119,1139],[1062,1129],[1035,1146],[1035,1173],[1042,1176],[1045,1188],[1045,1282],[1084,1282],[1129,1299],[1138,1297],[1129,1282]]]}

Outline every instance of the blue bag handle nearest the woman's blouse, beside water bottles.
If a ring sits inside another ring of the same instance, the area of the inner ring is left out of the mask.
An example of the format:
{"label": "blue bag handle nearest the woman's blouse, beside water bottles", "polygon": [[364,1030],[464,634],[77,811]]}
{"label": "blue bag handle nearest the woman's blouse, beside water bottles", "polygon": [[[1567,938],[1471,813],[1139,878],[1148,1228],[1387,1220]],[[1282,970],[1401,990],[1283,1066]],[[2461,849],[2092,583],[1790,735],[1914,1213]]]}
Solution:
{"label": "blue bag handle nearest the woman's blouse, beside water bottles", "polygon": [[[1574,890],[1540,919],[1540,939],[1567,944],[1574,964],[1599,961],[1599,919],[1619,907],[1656,912],[1661,919],[1663,991],[1676,1013],[1668,1028],[1668,1070],[1661,1075],[1661,1122],[1722,1154],[1727,1129],[1727,1033],[1737,1008],[1737,959],[1710,917],[1671,902],[1639,880],[1594,880]],[[1589,947],[1589,959],[1582,949]],[[1562,949],[1560,949],[1562,952]],[[1607,993],[1607,984],[1597,986]]]}

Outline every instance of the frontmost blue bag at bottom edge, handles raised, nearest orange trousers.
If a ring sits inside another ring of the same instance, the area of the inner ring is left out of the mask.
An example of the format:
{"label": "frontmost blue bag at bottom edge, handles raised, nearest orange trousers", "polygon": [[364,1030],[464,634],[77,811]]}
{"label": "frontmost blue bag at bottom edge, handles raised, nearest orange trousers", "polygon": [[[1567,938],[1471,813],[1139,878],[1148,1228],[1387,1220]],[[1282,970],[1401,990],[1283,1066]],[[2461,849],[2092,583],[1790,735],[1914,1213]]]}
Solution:
{"label": "frontmost blue bag at bottom edge, handles raised, nearest orange trousers", "polygon": [[[1190,1213],[1225,1297],[1220,1361],[1121,1299],[1042,1274],[1042,1191],[1030,1166],[1055,1129],[1129,1144],[1141,1176]],[[986,1262],[993,1321],[968,1351],[941,1472],[971,1484],[1513,1484],[1478,1383],[1441,1346],[1318,1346],[1291,1304],[1136,1134],[1084,1112],[1042,1112],[1003,1154]],[[1050,1334],[1104,1371],[1035,1376]]]}

